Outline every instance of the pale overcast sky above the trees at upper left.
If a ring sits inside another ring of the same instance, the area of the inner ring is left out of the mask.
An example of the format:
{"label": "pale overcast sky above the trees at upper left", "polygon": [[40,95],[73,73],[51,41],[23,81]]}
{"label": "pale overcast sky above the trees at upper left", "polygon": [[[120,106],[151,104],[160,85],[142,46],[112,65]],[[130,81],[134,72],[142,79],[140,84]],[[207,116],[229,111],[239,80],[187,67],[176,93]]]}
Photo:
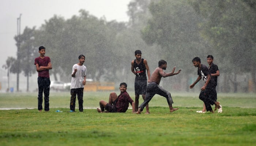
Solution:
{"label": "pale overcast sky above the trees at upper left", "polygon": [[[0,68],[10,56],[16,58],[17,18],[21,15],[21,34],[26,26],[36,29],[56,14],[65,19],[85,9],[97,18],[127,22],[128,4],[132,0],[1,0],[0,1]],[[43,45],[43,44],[42,44]],[[47,54],[46,54],[47,55]],[[33,62],[34,63],[34,62]]]}

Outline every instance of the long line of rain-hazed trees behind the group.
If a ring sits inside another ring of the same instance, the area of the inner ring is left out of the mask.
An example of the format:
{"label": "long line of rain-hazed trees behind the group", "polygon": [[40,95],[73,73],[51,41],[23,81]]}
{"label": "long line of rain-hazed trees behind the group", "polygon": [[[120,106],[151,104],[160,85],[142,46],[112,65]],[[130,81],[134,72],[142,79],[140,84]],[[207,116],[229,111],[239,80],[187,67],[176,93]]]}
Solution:
{"label": "long line of rain-hazed trees behind the group", "polygon": [[9,57],[3,67],[8,73],[23,73],[28,84],[36,73],[38,47],[45,46],[53,65],[52,80],[69,81],[72,66],[84,54],[87,78],[132,81],[133,54],[142,50],[151,72],[165,59],[169,69],[182,68],[180,77],[169,80],[189,82],[197,76],[193,57],[203,60],[211,54],[218,58],[225,80],[223,92],[231,92],[228,87],[237,92],[237,79],[243,74],[249,76],[255,92],[255,0],[132,0],[128,22],[108,22],[84,9],[79,13],[67,20],[54,15],[38,29],[26,27],[15,36],[19,59]]}

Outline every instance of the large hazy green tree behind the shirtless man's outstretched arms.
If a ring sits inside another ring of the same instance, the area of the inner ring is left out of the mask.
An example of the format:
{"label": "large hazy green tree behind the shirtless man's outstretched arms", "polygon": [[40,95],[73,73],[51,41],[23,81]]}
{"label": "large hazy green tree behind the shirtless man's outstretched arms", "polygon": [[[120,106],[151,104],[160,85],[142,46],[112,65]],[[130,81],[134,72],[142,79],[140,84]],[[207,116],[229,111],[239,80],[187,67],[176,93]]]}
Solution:
{"label": "large hazy green tree behind the shirtless man's outstretched arms", "polygon": [[[210,46],[200,37],[197,24],[201,18],[188,4],[187,0],[159,0],[149,6],[152,18],[142,30],[142,38],[148,45],[159,45],[158,56],[170,66],[184,69],[184,78],[192,72],[192,59],[196,56],[206,56]],[[155,54],[154,54],[155,55]],[[186,86],[186,85],[184,85]],[[184,87],[187,88],[187,87]]]}

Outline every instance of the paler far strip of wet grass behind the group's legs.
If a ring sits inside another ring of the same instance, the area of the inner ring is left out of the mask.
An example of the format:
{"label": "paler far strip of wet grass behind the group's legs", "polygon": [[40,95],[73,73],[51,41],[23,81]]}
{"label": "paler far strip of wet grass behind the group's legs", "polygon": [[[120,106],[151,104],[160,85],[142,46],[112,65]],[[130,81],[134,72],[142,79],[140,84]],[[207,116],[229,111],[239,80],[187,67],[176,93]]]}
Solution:
{"label": "paler far strip of wet grass behind the group's legs", "polygon": [[[119,93],[118,91],[117,93]],[[84,108],[99,107],[99,101],[108,101],[110,92],[84,92]],[[133,92],[128,92],[135,99]],[[174,107],[202,107],[199,93],[172,93]],[[218,93],[218,101],[224,107],[256,108],[256,94],[253,93]],[[140,96],[140,103],[143,102]],[[50,108],[69,108],[69,92],[50,92]],[[76,101],[78,105],[78,101]],[[168,107],[166,99],[155,95],[150,101],[151,107]],[[37,93],[0,93],[0,109],[37,108]],[[201,110],[199,108],[198,110]]]}

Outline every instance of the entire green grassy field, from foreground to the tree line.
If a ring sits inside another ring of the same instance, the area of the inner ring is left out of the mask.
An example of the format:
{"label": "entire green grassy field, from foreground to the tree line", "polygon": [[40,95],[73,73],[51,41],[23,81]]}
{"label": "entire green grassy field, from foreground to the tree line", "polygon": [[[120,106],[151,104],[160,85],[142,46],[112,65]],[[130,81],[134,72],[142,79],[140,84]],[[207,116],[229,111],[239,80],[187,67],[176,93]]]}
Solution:
{"label": "entire green grassy field, from foreground to the tree line", "polygon": [[[203,105],[199,93],[172,93],[173,107],[180,108],[173,113],[169,112],[166,99],[160,96],[150,101],[149,115],[132,114],[131,109],[126,113],[98,113],[99,100],[108,101],[108,94],[84,93],[87,109],[71,113],[67,112],[69,92],[50,92],[50,112],[38,112],[36,93],[0,93],[0,145],[250,146],[256,143],[255,94],[219,93],[223,113],[216,114],[195,112]],[[134,99],[133,93],[130,95]]]}

